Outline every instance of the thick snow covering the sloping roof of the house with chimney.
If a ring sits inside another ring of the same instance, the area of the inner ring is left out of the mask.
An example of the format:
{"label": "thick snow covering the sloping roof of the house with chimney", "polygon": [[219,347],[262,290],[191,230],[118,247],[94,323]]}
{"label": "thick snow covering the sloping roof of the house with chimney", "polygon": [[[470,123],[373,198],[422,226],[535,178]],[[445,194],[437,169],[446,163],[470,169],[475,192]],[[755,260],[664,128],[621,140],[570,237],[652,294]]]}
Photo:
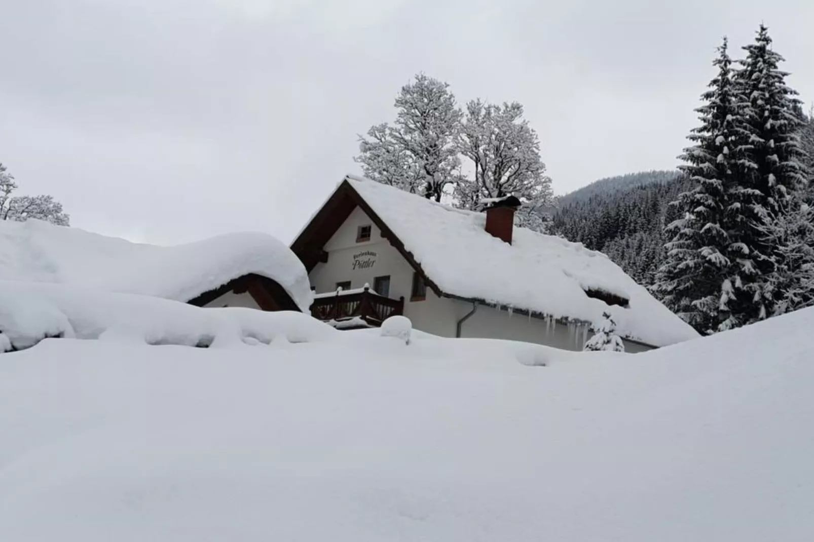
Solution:
{"label": "thick snow covering the sloping roof of the house with chimney", "polygon": [[[347,180],[444,293],[593,325],[610,310],[619,334],[654,346],[698,337],[607,256],[581,243],[516,227],[509,245],[486,232],[484,213],[360,177]],[[629,299],[629,307],[609,307],[586,290]]]}

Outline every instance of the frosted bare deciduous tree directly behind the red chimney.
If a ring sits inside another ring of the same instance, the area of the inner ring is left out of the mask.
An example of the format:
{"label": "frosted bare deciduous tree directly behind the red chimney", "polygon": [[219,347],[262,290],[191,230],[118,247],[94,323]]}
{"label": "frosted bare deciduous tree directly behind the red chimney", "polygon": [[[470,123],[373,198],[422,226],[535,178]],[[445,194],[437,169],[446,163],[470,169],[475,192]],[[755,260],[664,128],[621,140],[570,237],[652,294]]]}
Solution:
{"label": "frosted bare deciduous tree directly behind the red chimney", "polygon": [[463,208],[481,199],[514,195],[523,202],[519,225],[545,228],[543,208],[553,203],[551,179],[540,158],[540,141],[517,102],[502,105],[473,100],[457,139],[458,151],[471,161],[474,177],[458,181],[455,197]]}

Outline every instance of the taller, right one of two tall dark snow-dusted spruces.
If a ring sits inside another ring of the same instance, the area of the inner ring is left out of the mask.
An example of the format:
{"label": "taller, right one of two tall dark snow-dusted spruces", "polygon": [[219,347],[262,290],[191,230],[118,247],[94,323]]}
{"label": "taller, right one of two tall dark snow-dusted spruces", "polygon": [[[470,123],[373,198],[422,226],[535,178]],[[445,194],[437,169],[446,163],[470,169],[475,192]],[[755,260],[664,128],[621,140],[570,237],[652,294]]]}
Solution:
{"label": "taller, right one of two tall dark snow-dusted spruces", "polygon": [[[778,68],[781,55],[772,50],[772,38],[763,24],[755,43],[743,47],[746,58],[734,72],[738,96],[737,187],[733,190],[731,235],[740,254],[724,284],[721,308],[726,318],[719,330],[728,330],[777,313],[784,297],[772,274],[781,254],[768,229],[784,221],[794,209],[798,190],[807,183],[799,130],[800,101],[786,85],[788,73]],[[780,262],[781,263],[781,262]]]}

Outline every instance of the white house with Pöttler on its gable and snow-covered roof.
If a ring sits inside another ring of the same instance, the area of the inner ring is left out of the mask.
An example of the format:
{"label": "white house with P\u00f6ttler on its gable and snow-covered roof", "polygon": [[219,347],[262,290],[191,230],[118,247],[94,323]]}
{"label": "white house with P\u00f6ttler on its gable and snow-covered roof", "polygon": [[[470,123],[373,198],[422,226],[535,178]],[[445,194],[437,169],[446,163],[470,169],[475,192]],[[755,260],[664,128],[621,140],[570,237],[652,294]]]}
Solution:
{"label": "white house with P\u00f6ttler on its gable and snow-covered roof", "polygon": [[602,253],[514,227],[513,197],[469,212],[345,177],[291,245],[335,326],[403,314],[444,337],[581,349],[610,312],[628,352],[698,334]]}

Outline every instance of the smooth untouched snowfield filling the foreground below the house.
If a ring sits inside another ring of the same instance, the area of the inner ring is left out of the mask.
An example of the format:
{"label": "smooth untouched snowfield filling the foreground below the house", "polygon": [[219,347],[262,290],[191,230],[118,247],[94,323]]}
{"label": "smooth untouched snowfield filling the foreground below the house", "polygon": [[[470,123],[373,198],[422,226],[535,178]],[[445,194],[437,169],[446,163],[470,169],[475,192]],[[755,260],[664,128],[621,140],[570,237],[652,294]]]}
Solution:
{"label": "smooth untouched snowfield filling the foreground below the house", "polygon": [[812,326],[545,368],[45,340],[0,356],[0,540],[811,540]]}

